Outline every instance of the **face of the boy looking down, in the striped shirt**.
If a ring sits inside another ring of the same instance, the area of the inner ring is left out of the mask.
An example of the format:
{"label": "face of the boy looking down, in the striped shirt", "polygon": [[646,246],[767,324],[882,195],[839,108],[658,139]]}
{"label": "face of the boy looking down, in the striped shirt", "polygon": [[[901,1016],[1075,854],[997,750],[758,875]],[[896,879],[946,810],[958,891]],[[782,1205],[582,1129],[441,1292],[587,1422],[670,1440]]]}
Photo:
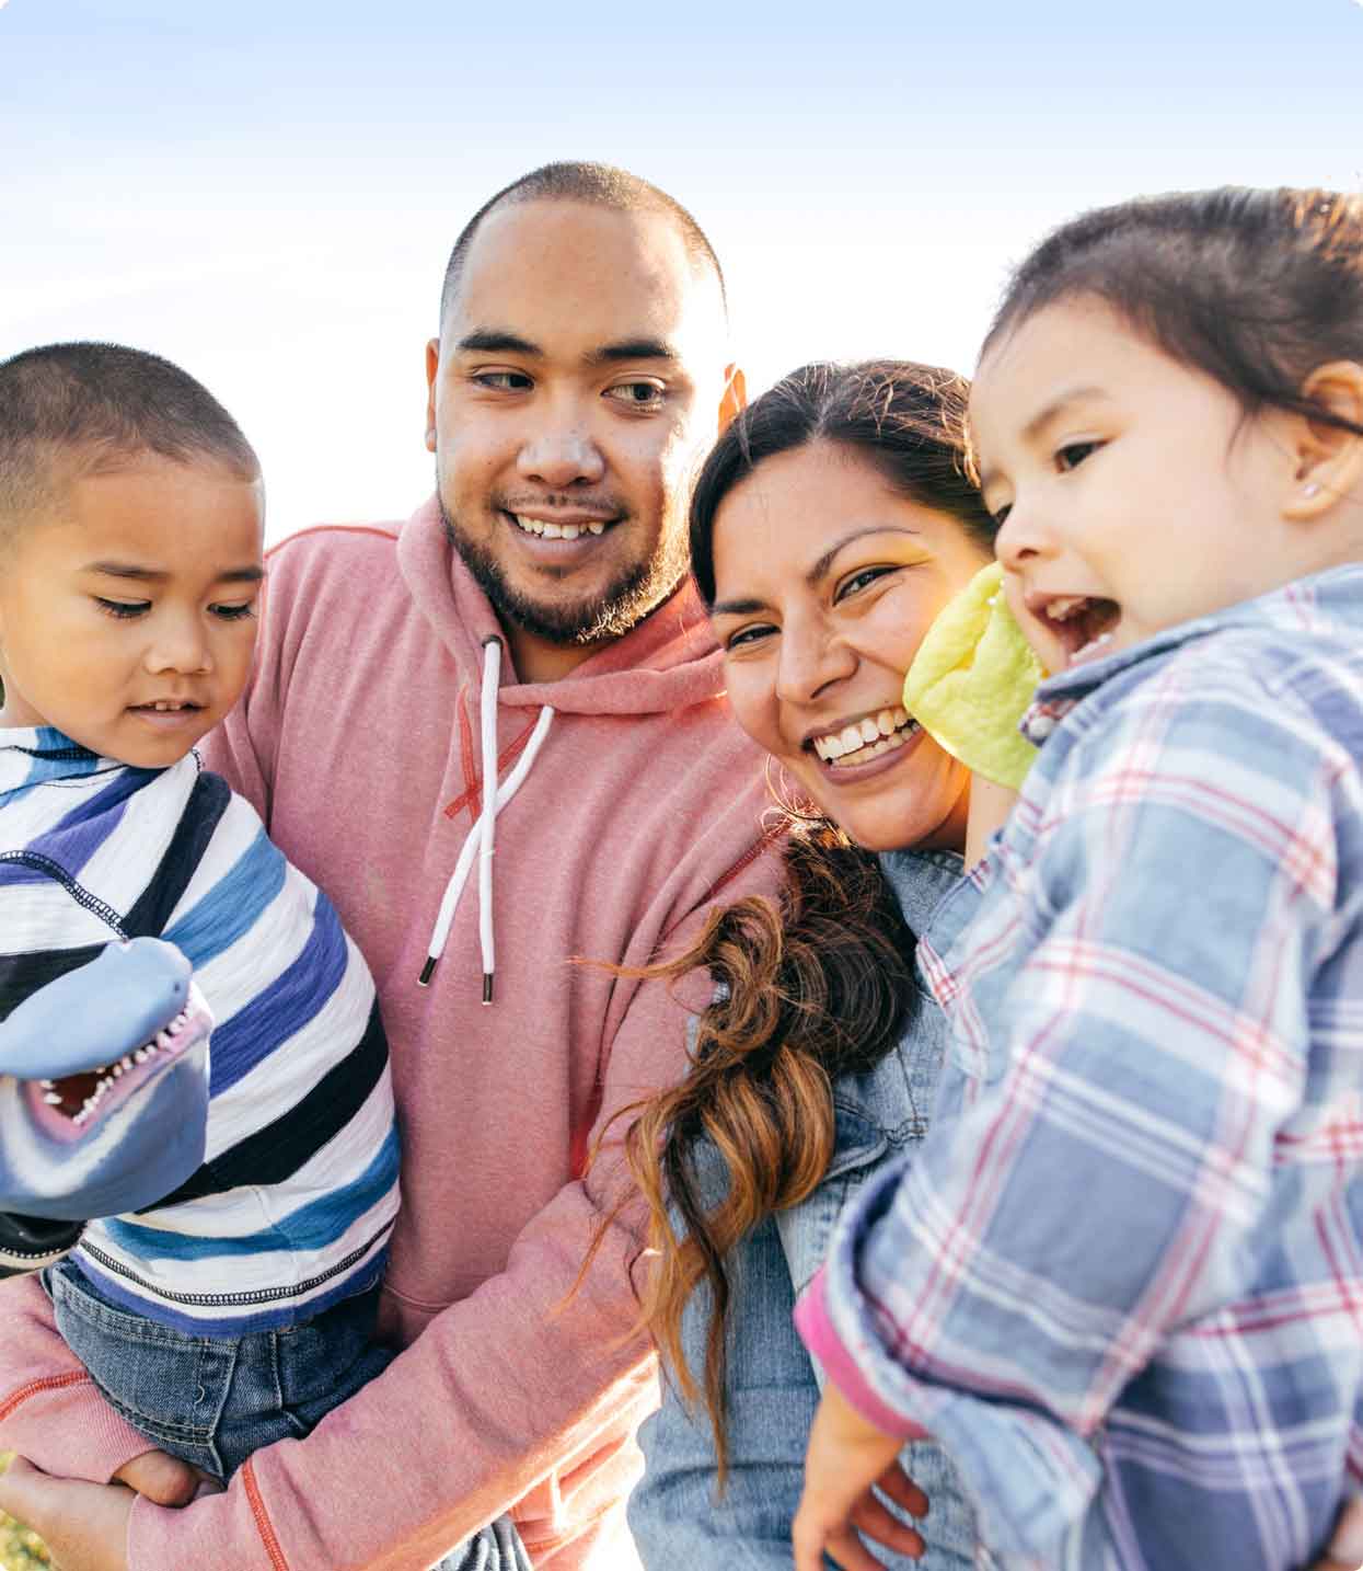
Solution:
{"label": "face of the boy looking down, in the striped shirt", "polygon": [[261,503],[258,481],[151,454],[60,489],[0,553],[0,724],[182,759],[251,668]]}

